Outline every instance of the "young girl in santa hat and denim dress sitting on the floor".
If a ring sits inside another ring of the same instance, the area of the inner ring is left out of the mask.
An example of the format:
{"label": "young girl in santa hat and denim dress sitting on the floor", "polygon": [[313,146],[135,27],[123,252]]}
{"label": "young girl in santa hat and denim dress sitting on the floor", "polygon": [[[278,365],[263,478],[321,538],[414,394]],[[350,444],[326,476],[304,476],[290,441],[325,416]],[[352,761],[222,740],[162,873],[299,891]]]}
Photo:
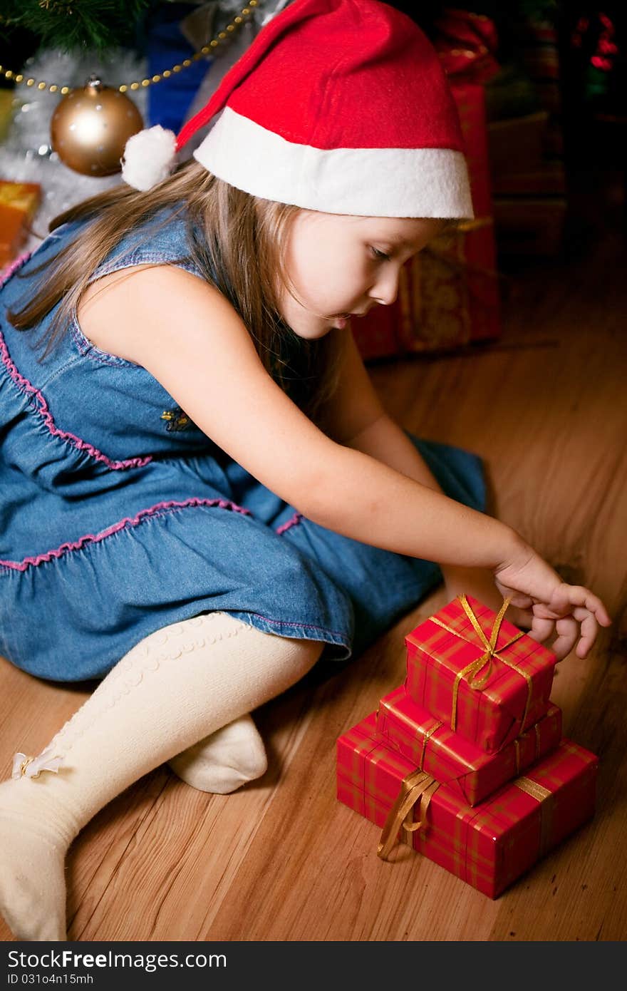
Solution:
{"label": "young girl in santa hat and denim dress sitting on the floor", "polygon": [[363,651],[439,565],[453,595],[511,597],[560,659],[610,622],[485,515],[475,456],[392,422],[351,334],[472,216],[412,21],[296,0],[175,141],[131,139],[123,175],[0,296],[0,653],[102,679],[0,786],[0,908],[23,939],[65,938],[65,852],[98,810],[163,762],[209,792],[260,776],[248,714]]}

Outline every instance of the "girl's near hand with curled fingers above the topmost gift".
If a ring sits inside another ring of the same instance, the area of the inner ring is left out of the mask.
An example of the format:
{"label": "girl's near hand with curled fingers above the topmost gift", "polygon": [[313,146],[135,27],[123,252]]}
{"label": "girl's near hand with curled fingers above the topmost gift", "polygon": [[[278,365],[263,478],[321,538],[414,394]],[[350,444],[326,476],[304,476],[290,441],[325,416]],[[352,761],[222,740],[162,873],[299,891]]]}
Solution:
{"label": "girl's near hand with curled fingers above the topmost gift", "polygon": [[495,569],[494,584],[504,599],[511,599],[512,606],[530,610],[529,636],[534,640],[544,643],[557,633],[550,649],[559,661],[571,653],[575,643],[576,656],[586,657],[599,624],[611,624],[597,596],[580,585],[563,582],[529,544]]}

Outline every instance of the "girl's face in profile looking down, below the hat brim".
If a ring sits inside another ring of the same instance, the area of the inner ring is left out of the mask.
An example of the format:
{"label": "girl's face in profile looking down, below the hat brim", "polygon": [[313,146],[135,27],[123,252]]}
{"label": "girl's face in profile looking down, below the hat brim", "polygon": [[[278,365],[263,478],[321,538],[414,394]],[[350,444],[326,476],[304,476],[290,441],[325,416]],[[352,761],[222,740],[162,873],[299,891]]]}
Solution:
{"label": "girl's face in profile looking down, below the hat brim", "polygon": [[282,318],[299,337],[315,339],[332,327],[344,329],[350,316],[389,305],[405,262],[446,224],[300,210],[286,244],[293,295],[279,288]]}

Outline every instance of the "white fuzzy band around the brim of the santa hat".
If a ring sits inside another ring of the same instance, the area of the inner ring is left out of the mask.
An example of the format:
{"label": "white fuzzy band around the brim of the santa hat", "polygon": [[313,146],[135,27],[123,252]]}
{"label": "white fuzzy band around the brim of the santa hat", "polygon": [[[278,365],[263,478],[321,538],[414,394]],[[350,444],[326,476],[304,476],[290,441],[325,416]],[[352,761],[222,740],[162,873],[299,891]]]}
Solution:
{"label": "white fuzzy band around the brim of the santa hat", "polygon": [[295,145],[226,107],[193,153],[238,189],[323,213],[472,219],[466,160],[443,148]]}

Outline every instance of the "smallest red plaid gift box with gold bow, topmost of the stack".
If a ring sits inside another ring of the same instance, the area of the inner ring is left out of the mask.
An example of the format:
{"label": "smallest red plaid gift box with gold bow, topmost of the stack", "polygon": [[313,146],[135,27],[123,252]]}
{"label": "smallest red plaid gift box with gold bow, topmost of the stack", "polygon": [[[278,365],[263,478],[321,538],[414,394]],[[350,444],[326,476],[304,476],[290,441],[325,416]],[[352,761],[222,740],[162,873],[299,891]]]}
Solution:
{"label": "smallest red plaid gift box with gold bow, topmost of the stack", "polygon": [[485,648],[465,601],[489,640],[496,613],[471,596],[458,596],[405,637],[405,689],[422,709],[494,753],[547,713],[557,658],[503,618],[494,656],[469,672]]}

